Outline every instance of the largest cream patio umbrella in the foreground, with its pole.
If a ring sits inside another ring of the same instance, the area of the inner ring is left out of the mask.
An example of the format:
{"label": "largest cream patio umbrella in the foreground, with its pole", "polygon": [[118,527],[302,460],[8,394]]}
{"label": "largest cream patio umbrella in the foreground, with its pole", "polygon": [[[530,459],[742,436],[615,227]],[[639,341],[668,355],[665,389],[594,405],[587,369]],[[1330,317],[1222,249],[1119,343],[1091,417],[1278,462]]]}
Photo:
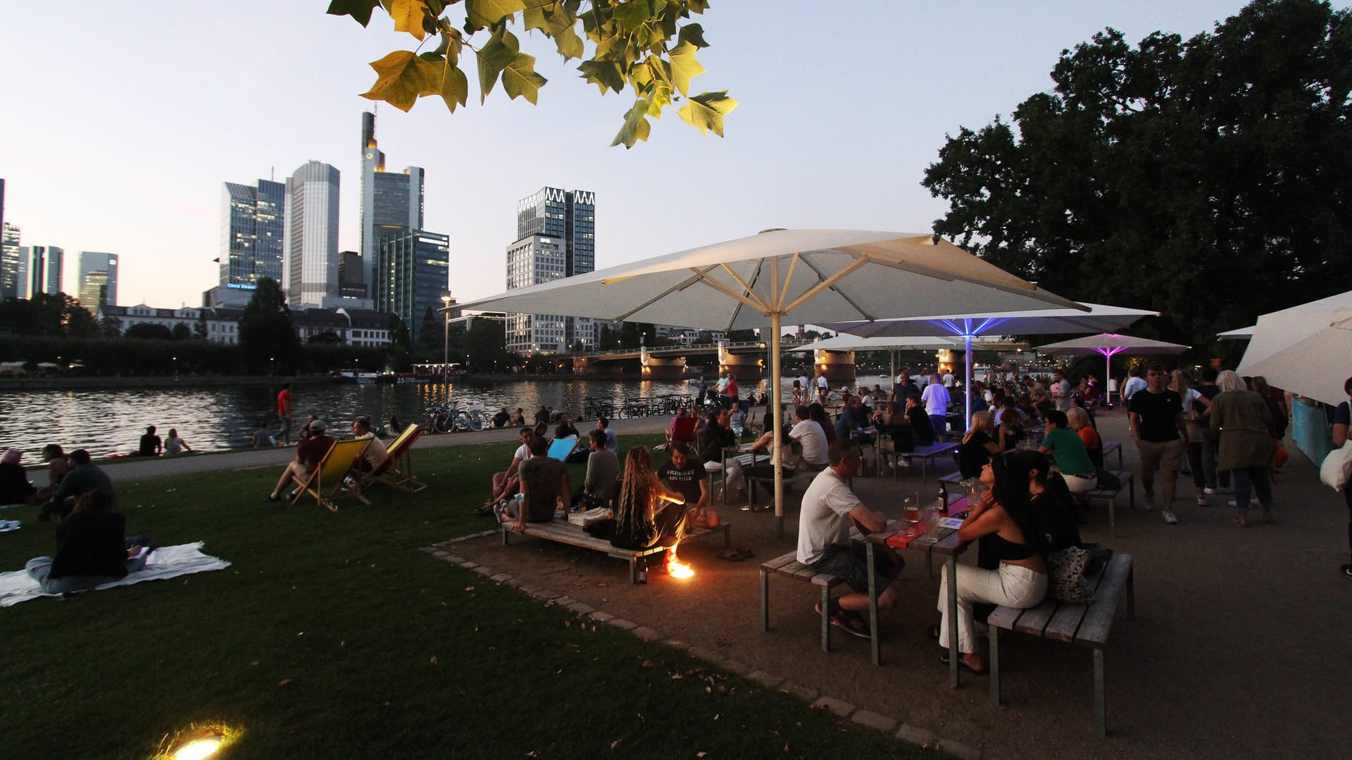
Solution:
{"label": "largest cream patio umbrella in the foreground, with its pole", "polygon": [[[776,429],[783,426],[780,325],[945,311],[1079,308],[927,234],[767,230],[460,304],[464,310],[560,314],[769,329]],[[768,325],[767,325],[768,322]],[[773,438],[775,515],[784,481]]]}

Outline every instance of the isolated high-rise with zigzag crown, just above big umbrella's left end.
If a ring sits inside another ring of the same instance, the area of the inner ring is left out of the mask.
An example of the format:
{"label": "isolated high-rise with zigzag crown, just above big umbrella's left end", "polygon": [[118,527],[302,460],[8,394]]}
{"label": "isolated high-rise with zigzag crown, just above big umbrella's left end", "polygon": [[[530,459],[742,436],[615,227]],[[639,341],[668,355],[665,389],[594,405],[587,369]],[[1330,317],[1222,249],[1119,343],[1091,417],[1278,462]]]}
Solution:
{"label": "isolated high-rise with zigzag crown, just above big umbrella's left end", "polygon": [[[596,193],[541,188],[516,203],[516,242],[507,246],[507,289],[596,269]],[[507,350],[558,353],[594,346],[591,319],[507,315]]]}

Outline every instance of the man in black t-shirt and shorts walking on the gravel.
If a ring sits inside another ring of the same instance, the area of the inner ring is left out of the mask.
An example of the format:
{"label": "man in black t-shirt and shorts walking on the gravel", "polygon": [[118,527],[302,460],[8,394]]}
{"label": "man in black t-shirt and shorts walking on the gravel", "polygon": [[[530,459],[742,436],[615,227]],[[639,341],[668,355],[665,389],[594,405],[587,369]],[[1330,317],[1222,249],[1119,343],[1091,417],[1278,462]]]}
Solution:
{"label": "man in black t-shirt and shorts walking on the gravel", "polygon": [[1187,427],[1183,423],[1183,399],[1164,387],[1164,368],[1152,364],[1145,373],[1145,389],[1132,394],[1126,403],[1132,438],[1141,452],[1141,485],[1146,508],[1155,508],[1155,471],[1164,471],[1164,522],[1175,525],[1174,485],[1187,450]]}

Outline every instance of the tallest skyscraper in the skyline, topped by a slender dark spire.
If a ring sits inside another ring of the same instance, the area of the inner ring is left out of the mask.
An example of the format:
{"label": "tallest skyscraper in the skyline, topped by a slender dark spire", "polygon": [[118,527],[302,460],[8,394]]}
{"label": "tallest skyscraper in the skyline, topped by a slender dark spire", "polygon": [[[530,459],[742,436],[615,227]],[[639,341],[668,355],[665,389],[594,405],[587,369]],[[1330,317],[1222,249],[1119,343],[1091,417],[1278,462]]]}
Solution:
{"label": "tallest skyscraper in the skyline, topped by a slender dark spire", "polygon": [[376,283],[387,273],[376,270],[376,250],[389,237],[403,237],[423,227],[423,170],[385,172],[385,154],[376,147],[376,115],[361,115],[361,257],[364,281]]}

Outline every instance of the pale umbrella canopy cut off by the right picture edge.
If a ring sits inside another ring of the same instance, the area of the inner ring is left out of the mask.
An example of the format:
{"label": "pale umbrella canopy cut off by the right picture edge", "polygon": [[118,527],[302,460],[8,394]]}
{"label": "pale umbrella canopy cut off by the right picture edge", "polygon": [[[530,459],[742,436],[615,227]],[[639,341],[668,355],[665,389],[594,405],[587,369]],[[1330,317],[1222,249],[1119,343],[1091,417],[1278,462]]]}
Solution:
{"label": "pale umbrella canopy cut off by the right picture edge", "polygon": [[1345,402],[1352,375],[1352,293],[1259,316],[1238,373],[1326,404]]}

